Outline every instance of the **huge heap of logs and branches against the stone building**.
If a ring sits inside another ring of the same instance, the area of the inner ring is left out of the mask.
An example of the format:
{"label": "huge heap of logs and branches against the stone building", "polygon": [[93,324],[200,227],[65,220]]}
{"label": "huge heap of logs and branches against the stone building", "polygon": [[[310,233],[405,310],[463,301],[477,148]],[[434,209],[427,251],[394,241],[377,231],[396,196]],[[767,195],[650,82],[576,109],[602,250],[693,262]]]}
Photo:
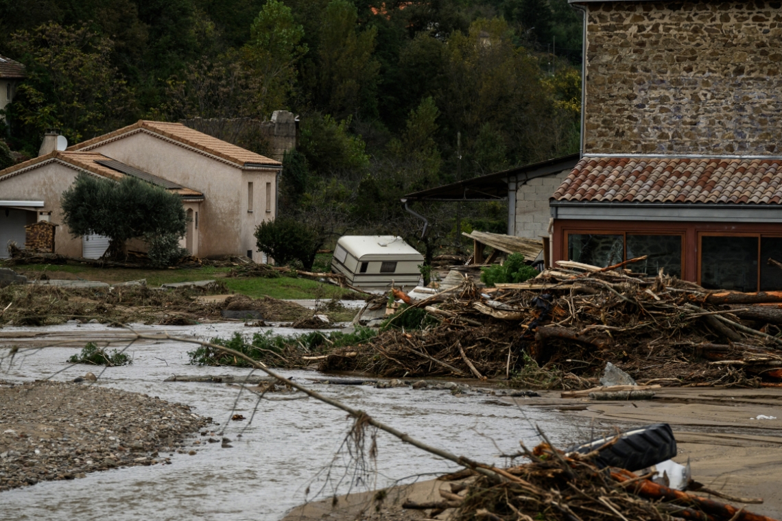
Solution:
{"label": "huge heap of logs and branches against the stone building", "polygon": [[435,325],[389,327],[356,357],[327,359],[321,369],[578,389],[594,387],[612,362],[664,385],[782,381],[782,293],[710,292],[662,272],[633,273],[628,266],[640,259],[602,269],[558,262],[496,288],[465,280],[396,313],[425,309]]}

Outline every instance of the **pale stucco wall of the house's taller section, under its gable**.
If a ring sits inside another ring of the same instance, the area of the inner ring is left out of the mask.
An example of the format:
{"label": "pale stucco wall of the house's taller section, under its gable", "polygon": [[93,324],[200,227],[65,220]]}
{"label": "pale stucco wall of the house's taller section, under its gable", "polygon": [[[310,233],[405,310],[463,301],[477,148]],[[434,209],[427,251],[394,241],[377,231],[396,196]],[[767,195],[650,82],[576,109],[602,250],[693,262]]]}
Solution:
{"label": "pale stucco wall of the house's taller section, under its gable", "polygon": [[[139,170],[152,173],[204,194],[199,209],[199,255],[246,255],[260,262],[256,252],[256,226],[273,218],[276,201],[275,170],[240,170],[192,149],[183,148],[145,132],[90,147]],[[253,182],[253,212],[247,211],[247,184]],[[266,183],[271,183],[268,209]]]}

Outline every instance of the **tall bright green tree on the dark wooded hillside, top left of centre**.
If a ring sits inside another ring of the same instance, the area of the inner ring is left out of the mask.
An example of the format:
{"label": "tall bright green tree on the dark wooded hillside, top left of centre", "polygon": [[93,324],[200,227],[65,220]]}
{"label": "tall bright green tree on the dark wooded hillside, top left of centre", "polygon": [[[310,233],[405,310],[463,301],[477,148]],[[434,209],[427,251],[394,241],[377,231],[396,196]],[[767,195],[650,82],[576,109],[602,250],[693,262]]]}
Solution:
{"label": "tall bright green tree on the dark wooded hillside, top left of centre", "polygon": [[256,80],[256,113],[270,114],[287,105],[296,81],[296,62],[307,54],[307,45],[300,44],[303,36],[291,9],[278,0],[269,0],[253,21],[242,56]]}

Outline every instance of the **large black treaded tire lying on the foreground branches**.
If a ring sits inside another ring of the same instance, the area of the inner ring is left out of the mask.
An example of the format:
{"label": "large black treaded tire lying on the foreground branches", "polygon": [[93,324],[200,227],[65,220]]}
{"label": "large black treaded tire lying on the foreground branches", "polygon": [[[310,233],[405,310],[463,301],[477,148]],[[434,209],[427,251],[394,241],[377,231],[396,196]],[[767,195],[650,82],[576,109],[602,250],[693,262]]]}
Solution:
{"label": "large black treaded tire lying on the foreground branches", "polygon": [[[629,430],[621,436],[615,444],[604,448],[594,459],[598,467],[619,467],[635,472],[676,456],[676,439],[668,423],[655,423]],[[612,438],[613,436],[597,438],[567,451],[587,454]]]}

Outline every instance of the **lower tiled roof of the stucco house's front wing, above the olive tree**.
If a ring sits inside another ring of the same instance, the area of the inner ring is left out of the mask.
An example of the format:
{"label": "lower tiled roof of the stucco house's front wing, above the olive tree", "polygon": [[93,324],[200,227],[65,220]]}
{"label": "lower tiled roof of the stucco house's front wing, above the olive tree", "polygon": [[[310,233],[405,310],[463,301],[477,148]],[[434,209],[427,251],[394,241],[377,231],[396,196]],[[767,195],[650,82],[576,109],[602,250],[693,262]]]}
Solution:
{"label": "lower tiled roof of the stucco house's front wing, above the olive tree", "polygon": [[[20,162],[18,165],[11,166],[9,168],[6,168],[5,170],[0,170],[0,181],[2,181],[3,177],[5,177],[6,175],[13,174],[15,172],[18,172],[19,170],[27,169],[30,166],[35,166],[38,163],[46,162],[50,159],[56,159],[62,162],[66,162],[69,165],[80,168],[81,170],[87,170],[88,172],[96,173],[99,176],[107,177],[108,179],[112,179],[116,181],[122,179],[126,175],[125,173],[123,173],[122,170],[117,170],[117,167],[109,168],[109,166],[106,166],[113,163],[122,165],[122,163],[115,161],[107,157],[106,155],[98,154],[96,152],[55,151],[55,152],[50,152],[46,155],[41,155],[40,157],[34,159],[30,159],[30,161]],[[137,169],[125,166],[123,170],[132,172]],[[149,173],[142,173],[142,174],[143,175],[136,175],[135,177],[141,177],[142,179],[147,180],[152,184],[163,186],[164,188],[167,188],[167,190],[172,191],[176,194],[180,194],[184,198],[203,198],[203,194],[199,191],[195,191],[190,188],[171,183],[170,181],[163,180],[160,177],[153,176],[152,174]]]}

